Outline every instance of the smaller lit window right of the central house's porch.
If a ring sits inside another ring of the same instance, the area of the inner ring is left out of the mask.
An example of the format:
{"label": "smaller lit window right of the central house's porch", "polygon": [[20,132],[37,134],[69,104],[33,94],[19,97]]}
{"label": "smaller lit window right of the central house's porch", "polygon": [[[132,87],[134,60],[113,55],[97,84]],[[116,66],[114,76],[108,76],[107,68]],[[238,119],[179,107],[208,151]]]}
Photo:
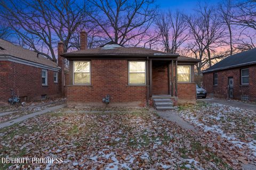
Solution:
{"label": "smaller lit window right of the central house's porch", "polygon": [[178,65],[178,82],[190,82],[190,81],[191,81],[191,66]]}

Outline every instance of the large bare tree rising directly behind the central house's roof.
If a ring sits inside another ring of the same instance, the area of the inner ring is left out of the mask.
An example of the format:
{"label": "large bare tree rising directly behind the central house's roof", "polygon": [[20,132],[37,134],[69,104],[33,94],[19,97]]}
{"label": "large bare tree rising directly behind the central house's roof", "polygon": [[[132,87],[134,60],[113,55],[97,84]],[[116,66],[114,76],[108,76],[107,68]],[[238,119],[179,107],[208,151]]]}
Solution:
{"label": "large bare tree rising directly behind the central house's roof", "polygon": [[95,24],[110,41],[121,45],[145,35],[157,14],[155,0],[87,1],[91,6],[88,14]]}

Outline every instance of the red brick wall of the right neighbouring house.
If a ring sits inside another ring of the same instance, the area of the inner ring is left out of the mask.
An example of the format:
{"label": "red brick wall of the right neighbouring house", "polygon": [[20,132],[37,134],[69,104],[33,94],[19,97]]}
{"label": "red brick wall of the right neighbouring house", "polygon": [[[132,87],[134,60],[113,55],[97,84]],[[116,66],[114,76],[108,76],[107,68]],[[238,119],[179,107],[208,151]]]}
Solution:
{"label": "red brick wall of the right neighbouring house", "polygon": [[249,67],[249,86],[241,85],[241,69],[236,68],[230,70],[218,71],[218,85],[213,85],[213,73],[205,73],[203,75],[203,86],[208,94],[215,97],[228,97],[228,78],[234,79],[234,99],[241,99],[241,95],[249,95],[250,100],[256,101],[256,66]]}

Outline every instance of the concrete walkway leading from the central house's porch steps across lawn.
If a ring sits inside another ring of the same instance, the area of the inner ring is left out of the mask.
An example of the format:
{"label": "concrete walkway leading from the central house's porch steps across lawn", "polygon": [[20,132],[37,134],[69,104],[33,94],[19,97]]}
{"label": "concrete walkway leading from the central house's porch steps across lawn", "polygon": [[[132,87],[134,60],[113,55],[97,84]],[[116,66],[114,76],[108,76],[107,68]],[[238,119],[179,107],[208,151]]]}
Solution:
{"label": "concrete walkway leading from the central house's porch steps across lawn", "polygon": [[157,111],[157,115],[168,121],[177,123],[183,129],[188,129],[188,130],[197,132],[197,130],[193,125],[184,121],[183,118],[181,118],[177,113],[175,113],[175,111],[165,111],[165,112]]}

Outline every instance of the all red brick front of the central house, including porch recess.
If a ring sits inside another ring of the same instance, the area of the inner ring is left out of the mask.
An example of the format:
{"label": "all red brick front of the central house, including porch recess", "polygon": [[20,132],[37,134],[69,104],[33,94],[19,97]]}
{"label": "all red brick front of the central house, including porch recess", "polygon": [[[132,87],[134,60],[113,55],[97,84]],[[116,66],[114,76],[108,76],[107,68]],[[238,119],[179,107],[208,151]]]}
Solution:
{"label": "all red brick front of the central house, including porch recess", "polygon": [[[72,79],[71,76],[70,79]],[[72,81],[69,84],[72,84]],[[127,86],[127,84],[127,60],[92,60],[91,85],[67,86],[68,106],[103,105],[102,98],[106,95],[110,95],[109,105],[113,103],[145,105],[147,87]],[[179,101],[195,103],[195,83],[179,83],[178,90]],[[167,65],[153,64],[153,94],[168,94]]]}

